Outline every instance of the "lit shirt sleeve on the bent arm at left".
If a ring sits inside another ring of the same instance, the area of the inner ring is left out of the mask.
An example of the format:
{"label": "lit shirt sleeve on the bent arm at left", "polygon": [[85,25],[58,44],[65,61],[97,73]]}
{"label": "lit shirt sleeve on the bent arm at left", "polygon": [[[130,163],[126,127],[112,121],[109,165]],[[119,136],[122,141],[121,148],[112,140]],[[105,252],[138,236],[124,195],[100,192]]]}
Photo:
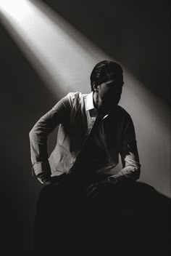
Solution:
{"label": "lit shirt sleeve on the bent arm at left", "polygon": [[67,121],[70,115],[69,97],[62,100],[39,119],[29,133],[30,154],[33,165],[33,175],[46,172],[51,175],[48,160],[47,138],[48,135],[59,125]]}

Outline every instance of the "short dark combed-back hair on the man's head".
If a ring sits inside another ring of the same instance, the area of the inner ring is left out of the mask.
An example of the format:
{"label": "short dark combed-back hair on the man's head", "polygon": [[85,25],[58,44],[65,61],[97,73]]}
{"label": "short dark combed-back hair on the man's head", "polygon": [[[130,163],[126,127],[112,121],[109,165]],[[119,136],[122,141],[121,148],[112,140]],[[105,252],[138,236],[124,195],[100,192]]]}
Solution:
{"label": "short dark combed-back hair on the man's head", "polygon": [[109,77],[122,76],[123,70],[120,64],[110,60],[102,60],[97,63],[91,72],[91,91],[93,91],[93,83],[102,84],[109,79]]}

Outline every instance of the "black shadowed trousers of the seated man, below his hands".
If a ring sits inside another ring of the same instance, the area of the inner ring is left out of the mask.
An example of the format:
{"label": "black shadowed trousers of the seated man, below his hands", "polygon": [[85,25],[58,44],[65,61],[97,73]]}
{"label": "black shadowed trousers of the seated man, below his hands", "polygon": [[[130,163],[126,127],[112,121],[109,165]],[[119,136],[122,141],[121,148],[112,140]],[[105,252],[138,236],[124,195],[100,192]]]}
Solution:
{"label": "black shadowed trousers of the seated man, below his hands", "polygon": [[127,181],[101,186],[93,197],[86,188],[97,180],[90,180],[63,175],[42,188],[34,256],[169,255],[167,211],[154,188]]}

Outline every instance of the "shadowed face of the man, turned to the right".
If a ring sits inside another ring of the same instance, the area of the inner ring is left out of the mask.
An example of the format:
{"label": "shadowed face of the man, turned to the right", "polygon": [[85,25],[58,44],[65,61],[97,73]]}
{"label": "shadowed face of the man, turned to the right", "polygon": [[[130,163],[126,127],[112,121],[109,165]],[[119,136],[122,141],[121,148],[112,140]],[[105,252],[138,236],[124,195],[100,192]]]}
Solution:
{"label": "shadowed face of the man, turned to the right", "polygon": [[120,102],[122,85],[122,77],[118,77],[109,79],[97,86],[99,111],[109,111]]}

